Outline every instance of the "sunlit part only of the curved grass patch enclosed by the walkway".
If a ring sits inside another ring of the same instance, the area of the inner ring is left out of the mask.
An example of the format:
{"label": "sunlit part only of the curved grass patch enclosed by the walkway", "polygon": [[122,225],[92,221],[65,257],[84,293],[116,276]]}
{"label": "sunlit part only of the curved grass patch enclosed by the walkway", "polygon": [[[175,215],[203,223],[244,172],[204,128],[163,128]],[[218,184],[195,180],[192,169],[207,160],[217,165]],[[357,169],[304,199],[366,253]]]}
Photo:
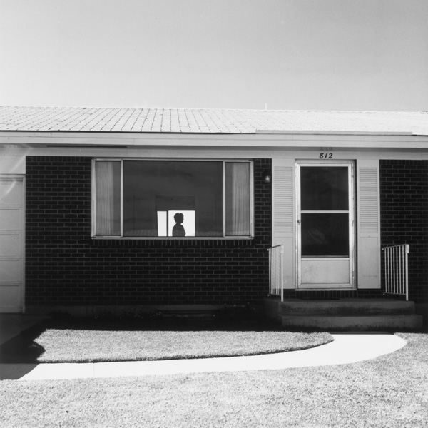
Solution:
{"label": "sunlit part only of the curved grass patch enclosed by the walkway", "polygon": [[97,331],[50,329],[36,338],[39,362],[172,360],[258,355],[331,342],[328,333],[236,331]]}

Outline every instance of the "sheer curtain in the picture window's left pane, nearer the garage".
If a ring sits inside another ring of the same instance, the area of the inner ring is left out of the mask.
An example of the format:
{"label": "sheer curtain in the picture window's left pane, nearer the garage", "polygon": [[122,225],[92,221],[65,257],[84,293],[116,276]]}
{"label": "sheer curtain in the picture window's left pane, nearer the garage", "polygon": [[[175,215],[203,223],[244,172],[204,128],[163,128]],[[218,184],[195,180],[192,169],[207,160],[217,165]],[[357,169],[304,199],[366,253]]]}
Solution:
{"label": "sheer curtain in the picture window's left pane, nearer the garage", "polygon": [[121,163],[96,163],[96,218],[98,236],[121,235]]}

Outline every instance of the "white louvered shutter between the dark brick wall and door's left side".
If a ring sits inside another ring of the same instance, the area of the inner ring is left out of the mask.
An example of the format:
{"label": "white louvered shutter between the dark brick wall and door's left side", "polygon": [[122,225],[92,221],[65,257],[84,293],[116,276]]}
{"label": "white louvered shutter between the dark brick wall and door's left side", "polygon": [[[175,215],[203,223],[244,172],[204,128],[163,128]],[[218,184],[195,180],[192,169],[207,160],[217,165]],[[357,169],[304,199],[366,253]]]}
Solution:
{"label": "white louvered shutter between the dark brick wall and door's left side", "polygon": [[284,245],[284,288],[295,288],[295,161],[272,159],[272,245]]}

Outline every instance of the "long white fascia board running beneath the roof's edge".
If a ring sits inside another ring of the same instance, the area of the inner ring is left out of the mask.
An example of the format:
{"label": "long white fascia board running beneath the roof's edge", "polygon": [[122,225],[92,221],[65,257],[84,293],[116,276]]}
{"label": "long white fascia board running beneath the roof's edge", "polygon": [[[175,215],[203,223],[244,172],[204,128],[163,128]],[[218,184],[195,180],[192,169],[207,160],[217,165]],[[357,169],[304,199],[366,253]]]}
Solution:
{"label": "long white fascia board running beneath the roof's edge", "polygon": [[403,133],[83,133],[0,131],[7,148],[382,148],[428,150],[428,136]]}

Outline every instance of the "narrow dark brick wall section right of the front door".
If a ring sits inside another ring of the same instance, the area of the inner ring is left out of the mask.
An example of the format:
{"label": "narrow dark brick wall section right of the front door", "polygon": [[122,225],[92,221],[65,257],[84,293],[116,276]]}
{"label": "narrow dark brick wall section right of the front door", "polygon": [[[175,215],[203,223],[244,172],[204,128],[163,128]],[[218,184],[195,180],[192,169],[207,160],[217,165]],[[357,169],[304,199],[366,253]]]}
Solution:
{"label": "narrow dark brick wall section right of the front door", "polygon": [[409,300],[427,302],[428,161],[380,161],[380,210],[382,247],[410,245]]}

